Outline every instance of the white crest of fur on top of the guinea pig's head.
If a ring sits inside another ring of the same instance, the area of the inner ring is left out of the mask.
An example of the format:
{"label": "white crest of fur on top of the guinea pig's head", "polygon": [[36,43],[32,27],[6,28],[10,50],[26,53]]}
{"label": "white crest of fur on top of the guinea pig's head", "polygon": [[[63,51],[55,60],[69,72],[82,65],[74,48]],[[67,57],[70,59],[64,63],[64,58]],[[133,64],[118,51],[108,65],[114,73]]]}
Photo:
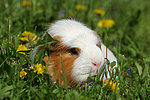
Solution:
{"label": "white crest of fur on top of the guinea pig's head", "polygon": [[65,45],[71,45],[70,41],[78,38],[78,36],[81,34],[86,35],[94,32],[84,26],[82,23],[69,19],[55,22],[47,31],[52,37],[62,37]]}

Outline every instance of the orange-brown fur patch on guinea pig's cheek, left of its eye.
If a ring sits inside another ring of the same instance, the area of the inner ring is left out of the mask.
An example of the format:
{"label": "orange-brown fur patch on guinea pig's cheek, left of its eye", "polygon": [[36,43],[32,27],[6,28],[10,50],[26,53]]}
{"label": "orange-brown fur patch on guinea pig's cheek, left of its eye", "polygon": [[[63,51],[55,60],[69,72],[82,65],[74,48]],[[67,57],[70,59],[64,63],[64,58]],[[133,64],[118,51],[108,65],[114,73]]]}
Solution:
{"label": "orange-brown fur patch on guinea pig's cheek, left of its eye", "polygon": [[[69,47],[64,46],[60,42],[51,44],[50,50],[52,51],[52,53],[50,54],[50,57],[48,56],[44,57],[44,61],[48,66],[49,73],[52,75],[53,82],[58,80],[59,83],[63,86],[64,86],[64,82],[61,77],[61,72],[62,72],[61,57],[63,59],[67,85],[71,86],[76,83],[76,82],[73,82],[72,69],[73,69],[74,61],[78,58],[78,56],[71,55],[69,53],[69,49],[70,49]],[[56,70],[56,77],[54,75],[53,67]]]}

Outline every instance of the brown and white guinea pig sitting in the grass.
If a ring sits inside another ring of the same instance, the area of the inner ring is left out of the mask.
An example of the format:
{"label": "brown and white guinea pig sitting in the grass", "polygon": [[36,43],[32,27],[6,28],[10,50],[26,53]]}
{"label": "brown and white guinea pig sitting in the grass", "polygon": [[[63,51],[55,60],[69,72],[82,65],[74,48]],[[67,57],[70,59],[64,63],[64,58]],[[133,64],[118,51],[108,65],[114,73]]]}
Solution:
{"label": "brown and white guinea pig sitting in the grass", "polygon": [[[46,32],[59,41],[50,44],[50,57],[44,57],[53,82],[59,81],[61,85],[64,85],[61,76],[61,59],[68,86],[86,81],[90,76],[98,75],[105,62],[106,55],[110,62],[116,62],[114,67],[117,67],[117,59],[102,43],[96,32],[80,22],[70,19],[59,20],[51,24]],[[32,59],[39,50],[40,47],[33,50]],[[54,75],[53,67],[56,75]]]}

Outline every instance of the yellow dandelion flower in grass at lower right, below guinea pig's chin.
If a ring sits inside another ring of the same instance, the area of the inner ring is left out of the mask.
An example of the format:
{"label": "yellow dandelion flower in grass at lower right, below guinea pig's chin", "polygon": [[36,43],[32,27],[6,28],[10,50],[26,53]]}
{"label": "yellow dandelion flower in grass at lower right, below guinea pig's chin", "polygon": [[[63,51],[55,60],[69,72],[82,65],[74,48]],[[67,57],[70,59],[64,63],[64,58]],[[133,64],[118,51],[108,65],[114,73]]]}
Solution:
{"label": "yellow dandelion flower in grass at lower right, below guinea pig's chin", "polygon": [[111,80],[109,81],[108,79],[104,79],[103,82],[106,83],[105,85],[109,86],[113,92],[115,91],[115,88],[116,92],[118,92],[119,88],[117,87],[116,83]]}

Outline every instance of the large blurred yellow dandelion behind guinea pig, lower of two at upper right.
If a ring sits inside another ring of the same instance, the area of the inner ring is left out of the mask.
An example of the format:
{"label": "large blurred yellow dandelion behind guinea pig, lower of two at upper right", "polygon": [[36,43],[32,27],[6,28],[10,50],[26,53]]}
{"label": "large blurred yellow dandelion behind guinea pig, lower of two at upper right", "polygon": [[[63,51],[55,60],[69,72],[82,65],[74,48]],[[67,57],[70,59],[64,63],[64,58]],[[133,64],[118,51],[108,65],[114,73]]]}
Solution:
{"label": "large blurred yellow dandelion behind guinea pig, lower of two at upper right", "polygon": [[111,19],[103,19],[103,20],[100,20],[99,23],[98,23],[98,26],[103,28],[103,27],[113,27],[115,24],[115,22]]}

